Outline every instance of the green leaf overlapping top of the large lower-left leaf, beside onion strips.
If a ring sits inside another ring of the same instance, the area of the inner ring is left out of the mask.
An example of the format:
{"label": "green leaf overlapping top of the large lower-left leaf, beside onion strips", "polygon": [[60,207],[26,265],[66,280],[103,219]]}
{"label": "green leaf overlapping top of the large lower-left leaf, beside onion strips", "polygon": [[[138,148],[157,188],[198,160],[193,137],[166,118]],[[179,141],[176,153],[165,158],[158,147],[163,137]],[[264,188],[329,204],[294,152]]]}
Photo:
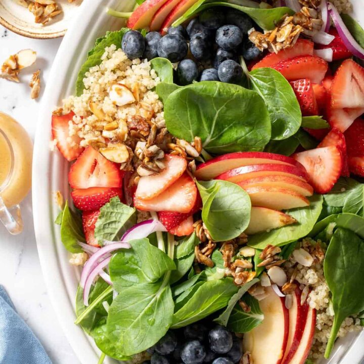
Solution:
{"label": "green leaf overlapping top of the large lower-left leaf, beside onion strips", "polygon": [[109,263],[110,277],[118,292],[133,284],[157,282],[165,272],[176,268],[173,260],[148,239],[132,240],[130,245],[131,249],[122,249]]}

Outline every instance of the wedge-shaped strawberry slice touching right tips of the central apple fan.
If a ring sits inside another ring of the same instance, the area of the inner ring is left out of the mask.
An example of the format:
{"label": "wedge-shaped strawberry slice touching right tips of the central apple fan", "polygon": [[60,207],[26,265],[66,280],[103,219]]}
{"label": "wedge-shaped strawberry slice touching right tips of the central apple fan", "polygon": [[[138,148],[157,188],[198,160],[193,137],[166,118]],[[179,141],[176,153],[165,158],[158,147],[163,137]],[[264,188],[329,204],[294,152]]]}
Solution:
{"label": "wedge-shaped strawberry slice touching right tips of the central apple fan", "polygon": [[317,193],[327,193],[339,179],[343,161],[336,146],[316,148],[292,155],[303,164],[308,173],[308,182]]}

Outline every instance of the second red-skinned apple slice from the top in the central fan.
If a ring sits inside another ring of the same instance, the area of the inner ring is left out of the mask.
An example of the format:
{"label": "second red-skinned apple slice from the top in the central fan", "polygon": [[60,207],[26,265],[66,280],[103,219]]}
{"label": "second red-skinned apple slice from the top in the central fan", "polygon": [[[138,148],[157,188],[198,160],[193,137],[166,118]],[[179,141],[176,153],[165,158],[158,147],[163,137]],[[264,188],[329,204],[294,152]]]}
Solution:
{"label": "second red-skinned apple slice from the top in the central fan", "polygon": [[223,179],[233,183],[239,183],[250,178],[270,175],[283,175],[297,178],[301,181],[307,180],[307,173],[291,165],[284,164],[254,164],[228,170],[218,175],[215,179]]}

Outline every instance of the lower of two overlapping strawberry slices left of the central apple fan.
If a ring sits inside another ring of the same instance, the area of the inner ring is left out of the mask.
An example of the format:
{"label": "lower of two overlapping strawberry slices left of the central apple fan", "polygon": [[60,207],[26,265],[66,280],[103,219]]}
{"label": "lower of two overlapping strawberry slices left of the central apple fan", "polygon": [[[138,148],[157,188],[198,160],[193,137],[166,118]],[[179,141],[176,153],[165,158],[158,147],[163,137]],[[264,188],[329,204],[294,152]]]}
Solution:
{"label": "lower of two overlapping strawberry slices left of the central apple fan", "polygon": [[135,194],[134,207],[143,211],[186,213],[194,207],[196,198],[196,184],[189,174],[184,173],[172,186],[152,199],[143,200]]}

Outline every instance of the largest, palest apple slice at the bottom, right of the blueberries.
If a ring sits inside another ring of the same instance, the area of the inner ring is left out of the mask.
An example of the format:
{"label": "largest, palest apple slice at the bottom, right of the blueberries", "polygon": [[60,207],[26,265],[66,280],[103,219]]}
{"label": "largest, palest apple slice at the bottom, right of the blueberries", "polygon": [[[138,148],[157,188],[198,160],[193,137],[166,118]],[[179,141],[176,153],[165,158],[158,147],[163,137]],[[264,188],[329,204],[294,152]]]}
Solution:
{"label": "largest, palest apple slice at the bottom, right of the blueberries", "polygon": [[287,347],[289,312],[284,299],[271,287],[265,291],[267,296],[259,301],[263,322],[244,335],[243,350],[251,353],[254,364],[281,364]]}

